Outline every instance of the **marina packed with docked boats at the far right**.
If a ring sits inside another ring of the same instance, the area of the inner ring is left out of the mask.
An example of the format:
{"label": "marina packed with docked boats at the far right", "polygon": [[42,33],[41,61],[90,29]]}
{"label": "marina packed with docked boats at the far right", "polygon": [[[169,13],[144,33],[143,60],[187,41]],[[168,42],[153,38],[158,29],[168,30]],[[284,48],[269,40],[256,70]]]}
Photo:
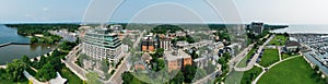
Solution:
{"label": "marina packed with docked boats at the far right", "polygon": [[[302,51],[305,58],[328,74],[328,35],[327,34],[290,34],[290,39],[296,39],[309,50]],[[304,49],[304,48],[302,48]]]}

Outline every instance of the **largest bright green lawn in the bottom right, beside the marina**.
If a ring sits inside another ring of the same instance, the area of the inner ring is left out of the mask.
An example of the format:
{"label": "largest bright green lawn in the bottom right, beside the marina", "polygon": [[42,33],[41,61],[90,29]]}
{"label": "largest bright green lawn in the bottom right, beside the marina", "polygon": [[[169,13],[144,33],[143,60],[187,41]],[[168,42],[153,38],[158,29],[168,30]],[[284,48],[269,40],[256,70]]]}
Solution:
{"label": "largest bright green lawn in the bottom right, beside the marina", "polygon": [[269,69],[258,84],[325,84],[323,80],[313,79],[312,73],[314,70],[303,57],[296,57]]}

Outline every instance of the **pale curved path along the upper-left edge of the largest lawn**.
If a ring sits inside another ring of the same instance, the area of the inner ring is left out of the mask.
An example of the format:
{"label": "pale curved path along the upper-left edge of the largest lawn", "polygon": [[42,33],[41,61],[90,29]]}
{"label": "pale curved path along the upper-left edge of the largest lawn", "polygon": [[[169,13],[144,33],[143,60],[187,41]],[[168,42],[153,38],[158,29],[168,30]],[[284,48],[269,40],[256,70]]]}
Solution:
{"label": "pale curved path along the upper-left edge of the largest lawn", "polygon": [[[293,58],[296,58],[296,57],[301,57],[301,56],[294,56],[294,57],[290,57],[290,58],[280,60],[278,62],[274,62],[273,64],[271,64],[270,67],[268,67],[267,70],[271,69],[272,67],[274,67],[274,65],[277,65],[277,64],[279,64],[279,63],[283,62],[283,61],[286,61],[286,60],[290,60],[290,59],[293,59]],[[262,67],[260,65],[260,68],[262,68]],[[251,82],[251,84],[256,84],[258,82],[258,80],[267,72],[265,70],[265,68],[262,68],[262,70],[263,71]]]}

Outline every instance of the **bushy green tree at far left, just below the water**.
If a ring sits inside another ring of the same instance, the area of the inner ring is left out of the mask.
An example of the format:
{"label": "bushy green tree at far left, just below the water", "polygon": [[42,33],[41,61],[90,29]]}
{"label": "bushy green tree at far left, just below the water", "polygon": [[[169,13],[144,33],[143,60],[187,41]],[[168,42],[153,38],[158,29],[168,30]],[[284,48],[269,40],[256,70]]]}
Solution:
{"label": "bushy green tree at far left, just below the water", "polygon": [[7,73],[10,75],[12,81],[19,82],[24,79],[23,71],[26,64],[22,60],[14,59],[12,63],[7,64]]}

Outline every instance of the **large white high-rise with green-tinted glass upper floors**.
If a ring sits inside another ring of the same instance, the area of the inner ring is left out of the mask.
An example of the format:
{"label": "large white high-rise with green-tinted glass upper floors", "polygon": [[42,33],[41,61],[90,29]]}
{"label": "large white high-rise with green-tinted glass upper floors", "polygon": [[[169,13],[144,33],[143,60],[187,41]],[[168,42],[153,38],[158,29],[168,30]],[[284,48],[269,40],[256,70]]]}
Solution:
{"label": "large white high-rise with green-tinted glass upper floors", "polygon": [[109,60],[117,63],[121,58],[121,41],[116,33],[108,28],[90,29],[82,41],[82,52],[96,60]]}

